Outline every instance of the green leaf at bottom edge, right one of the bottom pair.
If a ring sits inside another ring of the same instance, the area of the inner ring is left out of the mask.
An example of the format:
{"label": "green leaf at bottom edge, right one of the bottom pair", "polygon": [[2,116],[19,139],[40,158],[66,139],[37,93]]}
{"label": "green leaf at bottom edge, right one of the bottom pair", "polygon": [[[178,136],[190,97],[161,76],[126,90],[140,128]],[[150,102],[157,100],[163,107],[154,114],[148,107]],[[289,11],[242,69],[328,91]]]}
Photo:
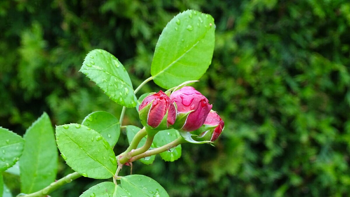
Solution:
{"label": "green leaf at bottom edge, right one of the bottom pair", "polygon": [[122,177],[121,187],[126,190],[130,196],[169,196],[158,182],[144,175],[128,175]]}

